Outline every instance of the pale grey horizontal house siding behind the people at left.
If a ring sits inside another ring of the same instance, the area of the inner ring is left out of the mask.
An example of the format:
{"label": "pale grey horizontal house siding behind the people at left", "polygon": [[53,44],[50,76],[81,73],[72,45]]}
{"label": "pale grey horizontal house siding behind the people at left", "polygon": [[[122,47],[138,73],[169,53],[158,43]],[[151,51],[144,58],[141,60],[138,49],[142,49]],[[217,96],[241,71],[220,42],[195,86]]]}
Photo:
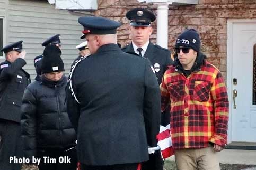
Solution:
{"label": "pale grey horizontal house siding behind the people at left", "polygon": [[61,34],[64,44],[61,57],[68,74],[71,63],[78,56],[75,46],[82,42],[83,27],[77,22],[80,16],[67,10],[56,10],[48,1],[10,0],[8,8],[8,43],[23,40],[23,49],[27,51],[24,69],[30,73],[31,79],[36,76],[33,59],[44,49],[41,43],[55,34]]}

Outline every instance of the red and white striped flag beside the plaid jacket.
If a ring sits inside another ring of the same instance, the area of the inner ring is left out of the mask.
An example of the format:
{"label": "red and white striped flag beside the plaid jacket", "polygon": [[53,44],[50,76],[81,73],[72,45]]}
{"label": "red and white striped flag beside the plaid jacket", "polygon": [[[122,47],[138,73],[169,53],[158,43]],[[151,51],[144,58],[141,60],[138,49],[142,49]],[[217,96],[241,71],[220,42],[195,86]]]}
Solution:
{"label": "red and white striped flag beside the plaid jacket", "polygon": [[174,150],[172,148],[172,139],[170,135],[170,124],[166,127],[160,126],[159,134],[156,135],[156,139],[158,140],[157,145],[160,146],[162,159],[174,155]]}

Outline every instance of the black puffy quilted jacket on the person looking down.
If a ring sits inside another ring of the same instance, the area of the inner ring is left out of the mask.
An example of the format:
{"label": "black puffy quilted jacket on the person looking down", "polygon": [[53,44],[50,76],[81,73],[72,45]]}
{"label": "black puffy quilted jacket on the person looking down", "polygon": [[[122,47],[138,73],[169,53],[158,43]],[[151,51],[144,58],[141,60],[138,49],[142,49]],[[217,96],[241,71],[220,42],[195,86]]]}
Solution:
{"label": "black puffy quilted jacket on the person looking down", "polygon": [[21,106],[21,133],[24,156],[36,156],[37,149],[70,148],[76,133],[67,115],[67,78],[32,82],[24,91]]}

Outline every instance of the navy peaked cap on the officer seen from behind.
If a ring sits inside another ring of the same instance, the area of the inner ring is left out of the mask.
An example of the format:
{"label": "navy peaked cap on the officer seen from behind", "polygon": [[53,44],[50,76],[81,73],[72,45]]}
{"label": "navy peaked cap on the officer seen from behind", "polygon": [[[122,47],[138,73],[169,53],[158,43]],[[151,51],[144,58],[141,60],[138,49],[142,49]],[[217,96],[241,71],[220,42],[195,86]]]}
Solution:
{"label": "navy peaked cap on the officer seen from behind", "polygon": [[82,37],[86,34],[116,34],[121,26],[119,22],[100,16],[83,16],[78,18],[78,22],[84,27]]}

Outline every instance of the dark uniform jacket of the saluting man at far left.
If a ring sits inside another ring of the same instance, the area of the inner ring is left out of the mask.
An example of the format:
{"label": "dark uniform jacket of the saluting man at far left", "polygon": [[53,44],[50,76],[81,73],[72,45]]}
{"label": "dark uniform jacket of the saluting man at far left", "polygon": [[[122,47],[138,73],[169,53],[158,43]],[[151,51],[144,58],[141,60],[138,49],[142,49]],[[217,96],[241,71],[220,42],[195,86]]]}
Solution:
{"label": "dark uniform jacket of the saluting man at far left", "polygon": [[21,58],[0,64],[0,119],[20,122],[21,99],[31,82],[30,75],[22,69],[25,64]]}

